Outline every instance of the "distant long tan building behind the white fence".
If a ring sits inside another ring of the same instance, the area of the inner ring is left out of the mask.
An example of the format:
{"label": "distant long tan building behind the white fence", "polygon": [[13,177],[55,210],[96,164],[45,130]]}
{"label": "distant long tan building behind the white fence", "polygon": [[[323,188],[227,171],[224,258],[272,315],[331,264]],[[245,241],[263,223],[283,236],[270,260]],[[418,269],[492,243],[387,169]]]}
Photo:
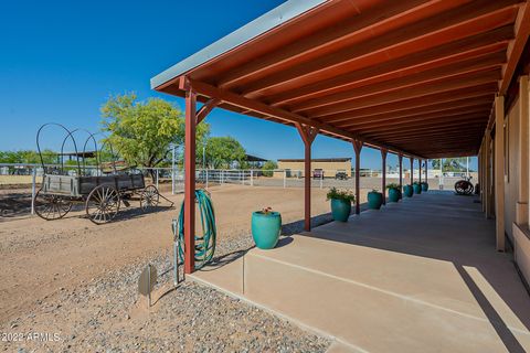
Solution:
{"label": "distant long tan building behind the white fence", "polygon": [[[278,169],[285,170],[287,178],[304,176],[304,159],[278,159]],[[311,175],[324,171],[324,178],[335,178],[343,172],[351,178],[351,158],[320,158],[311,159]],[[275,172],[275,176],[283,176],[283,171]]]}

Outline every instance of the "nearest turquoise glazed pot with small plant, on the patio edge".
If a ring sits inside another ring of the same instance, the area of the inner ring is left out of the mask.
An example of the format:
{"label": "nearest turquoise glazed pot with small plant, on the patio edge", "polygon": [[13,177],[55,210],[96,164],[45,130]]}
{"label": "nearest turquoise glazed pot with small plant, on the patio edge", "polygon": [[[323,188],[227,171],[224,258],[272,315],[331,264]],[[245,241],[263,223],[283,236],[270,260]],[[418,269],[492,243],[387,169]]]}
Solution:
{"label": "nearest turquoise glazed pot with small plant, on the patio edge", "polygon": [[252,213],[252,237],[261,249],[272,249],[282,232],[282,215],[266,207]]}

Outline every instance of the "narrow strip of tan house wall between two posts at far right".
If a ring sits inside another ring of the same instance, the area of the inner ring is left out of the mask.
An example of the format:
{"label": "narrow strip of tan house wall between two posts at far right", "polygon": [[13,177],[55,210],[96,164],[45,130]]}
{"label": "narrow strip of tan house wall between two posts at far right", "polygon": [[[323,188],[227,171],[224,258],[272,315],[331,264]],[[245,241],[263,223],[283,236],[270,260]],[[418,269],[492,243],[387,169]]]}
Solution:
{"label": "narrow strip of tan house wall between two posts at far right", "polygon": [[519,192],[519,119],[518,98],[505,120],[505,231],[511,242]]}

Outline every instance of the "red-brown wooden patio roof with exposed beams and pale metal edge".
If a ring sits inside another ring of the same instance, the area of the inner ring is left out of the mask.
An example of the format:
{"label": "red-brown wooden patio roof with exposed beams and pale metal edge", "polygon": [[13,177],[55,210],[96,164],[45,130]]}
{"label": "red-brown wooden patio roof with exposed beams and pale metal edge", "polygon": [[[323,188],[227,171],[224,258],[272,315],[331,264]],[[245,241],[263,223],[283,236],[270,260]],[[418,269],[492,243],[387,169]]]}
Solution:
{"label": "red-brown wooden patio roof with exposed beams and pale metal edge", "polygon": [[410,157],[473,156],[529,33],[521,0],[292,0],[151,86]]}

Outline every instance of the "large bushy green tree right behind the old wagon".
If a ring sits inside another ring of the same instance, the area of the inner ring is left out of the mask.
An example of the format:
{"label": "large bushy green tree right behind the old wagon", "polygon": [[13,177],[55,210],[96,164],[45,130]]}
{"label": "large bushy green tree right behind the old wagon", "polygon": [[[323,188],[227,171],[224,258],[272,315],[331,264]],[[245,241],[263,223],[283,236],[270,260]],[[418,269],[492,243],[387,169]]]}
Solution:
{"label": "large bushy green tree right behind the old wagon", "polygon": [[[163,99],[113,96],[102,107],[102,116],[103,130],[110,133],[106,141],[131,165],[157,167],[170,158],[171,143],[184,143],[182,111]],[[198,125],[198,146],[209,133],[208,124]]]}

